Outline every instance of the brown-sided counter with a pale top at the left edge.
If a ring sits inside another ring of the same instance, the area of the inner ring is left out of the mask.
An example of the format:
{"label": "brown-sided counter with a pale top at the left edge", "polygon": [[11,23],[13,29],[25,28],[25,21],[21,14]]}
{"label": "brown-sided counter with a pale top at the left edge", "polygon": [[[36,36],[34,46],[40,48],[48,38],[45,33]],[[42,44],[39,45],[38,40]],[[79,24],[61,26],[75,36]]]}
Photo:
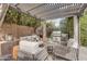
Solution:
{"label": "brown-sided counter with a pale top at the left edge", "polygon": [[12,48],[13,48],[12,42],[0,41],[0,59],[9,57],[9,55],[12,54]]}

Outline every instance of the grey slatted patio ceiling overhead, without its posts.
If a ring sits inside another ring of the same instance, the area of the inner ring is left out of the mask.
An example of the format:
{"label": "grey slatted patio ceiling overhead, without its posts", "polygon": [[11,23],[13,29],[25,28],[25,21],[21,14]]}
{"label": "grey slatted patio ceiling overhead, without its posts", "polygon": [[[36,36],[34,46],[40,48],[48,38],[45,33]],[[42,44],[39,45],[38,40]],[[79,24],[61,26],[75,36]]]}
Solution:
{"label": "grey slatted patio ceiling overhead, without its posts", "polygon": [[87,7],[86,3],[15,3],[10,5],[41,20],[79,15]]}

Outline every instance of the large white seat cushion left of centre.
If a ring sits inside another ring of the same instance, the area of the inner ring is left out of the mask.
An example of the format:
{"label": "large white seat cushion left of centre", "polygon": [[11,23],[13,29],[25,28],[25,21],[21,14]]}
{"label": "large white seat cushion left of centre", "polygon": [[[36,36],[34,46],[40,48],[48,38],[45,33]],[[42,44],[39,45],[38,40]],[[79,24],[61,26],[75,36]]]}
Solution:
{"label": "large white seat cushion left of centre", "polygon": [[39,42],[32,42],[32,41],[20,41],[20,50],[34,53],[39,50]]}

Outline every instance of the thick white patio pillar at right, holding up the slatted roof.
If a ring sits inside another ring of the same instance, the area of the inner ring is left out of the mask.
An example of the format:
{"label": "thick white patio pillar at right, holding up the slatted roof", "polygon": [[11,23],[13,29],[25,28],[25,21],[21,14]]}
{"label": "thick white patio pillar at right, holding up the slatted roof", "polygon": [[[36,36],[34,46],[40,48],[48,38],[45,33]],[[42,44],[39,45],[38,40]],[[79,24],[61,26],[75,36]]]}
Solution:
{"label": "thick white patio pillar at right, holding up the slatted roof", "polygon": [[74,16],[74,46],[76,49],[76,60],[79,59],[79,17]]}

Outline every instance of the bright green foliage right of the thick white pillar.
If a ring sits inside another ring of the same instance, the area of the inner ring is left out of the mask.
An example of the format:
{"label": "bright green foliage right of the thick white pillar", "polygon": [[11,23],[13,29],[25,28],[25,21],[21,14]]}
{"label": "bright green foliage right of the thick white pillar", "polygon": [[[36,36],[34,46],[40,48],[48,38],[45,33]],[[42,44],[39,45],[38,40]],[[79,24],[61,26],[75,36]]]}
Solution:
{"label": "bright green foliage right of the thick white pillar", "polygon": [[79,18],[80,21],[80,42],[81,46],[87,46],[87,11],[84,12],[84,15]]}

